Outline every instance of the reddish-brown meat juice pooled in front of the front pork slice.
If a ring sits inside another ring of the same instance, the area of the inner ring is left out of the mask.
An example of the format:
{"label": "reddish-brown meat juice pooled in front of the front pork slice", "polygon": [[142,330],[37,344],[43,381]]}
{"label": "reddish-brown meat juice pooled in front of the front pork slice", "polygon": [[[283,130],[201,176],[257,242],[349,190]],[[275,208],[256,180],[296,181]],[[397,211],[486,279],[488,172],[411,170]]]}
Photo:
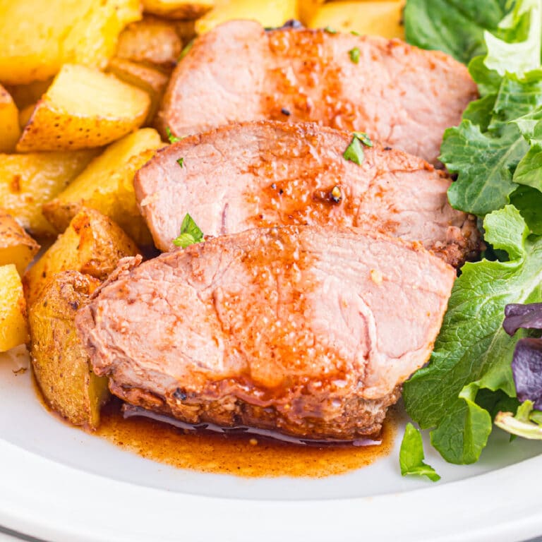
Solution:
{"label": "reddish-brown meat juice pooled in front of the front pork slice", "polygon": [[380,445],[302,445],[257,435],[185,433],[150,418],[124,418],[121,402],[114,399],[104,407],[100,428],[95,434],[124,450],[179,469],[249,478],[321,478],[360,469],[389,454],[397,418],[395,409],[390,409]]}

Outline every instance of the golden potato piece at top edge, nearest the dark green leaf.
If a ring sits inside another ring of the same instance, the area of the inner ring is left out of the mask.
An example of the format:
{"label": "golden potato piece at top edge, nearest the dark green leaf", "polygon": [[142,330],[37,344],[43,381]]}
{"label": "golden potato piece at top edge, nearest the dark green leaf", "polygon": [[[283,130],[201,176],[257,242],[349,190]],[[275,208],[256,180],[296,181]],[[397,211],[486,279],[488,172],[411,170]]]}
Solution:
{"label": "golden potato piece at top edge, nearest the dark green leaf", "polygon": [[338,32],[404,38],[403,7],[404,0],[329,2],[314,11],[307,25],[309,28],[330,26]]}

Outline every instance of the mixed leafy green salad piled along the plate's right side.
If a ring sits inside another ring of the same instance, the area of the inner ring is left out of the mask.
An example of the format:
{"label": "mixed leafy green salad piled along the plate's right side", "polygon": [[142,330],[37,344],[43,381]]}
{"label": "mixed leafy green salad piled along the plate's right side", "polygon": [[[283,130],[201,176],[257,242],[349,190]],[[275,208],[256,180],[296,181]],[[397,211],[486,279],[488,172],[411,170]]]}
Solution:
{"label": "mixed leafy green salad piled along the plate's right side", "polygon": [[[542,0],[407,0],[404,23],[411,44],[468,64],[480,95],[440,160],[486,250],[462,267],[430,362],[403,392],[442,457],[469,464],[495,424],[542,438]],[[436,480],[416,433],[409,424],[402,473]]]}

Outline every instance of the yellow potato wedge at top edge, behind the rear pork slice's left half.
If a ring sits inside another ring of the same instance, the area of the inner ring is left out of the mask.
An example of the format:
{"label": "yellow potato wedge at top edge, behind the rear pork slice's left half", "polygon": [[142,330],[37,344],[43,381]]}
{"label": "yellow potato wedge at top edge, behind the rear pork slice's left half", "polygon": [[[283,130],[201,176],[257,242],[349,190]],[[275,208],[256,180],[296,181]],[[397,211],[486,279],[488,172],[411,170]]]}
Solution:
{"label": "yellow potato wedge at top edge, behind the rear pork slice's left half", "polygon": [[230,19],[258,20],[265,27],[282,26],[289,19],[297,18],[297,0],[272,0],[255,2],[236,0],[218,4],[195,21],[195,32],[205,34],[215,26]]}

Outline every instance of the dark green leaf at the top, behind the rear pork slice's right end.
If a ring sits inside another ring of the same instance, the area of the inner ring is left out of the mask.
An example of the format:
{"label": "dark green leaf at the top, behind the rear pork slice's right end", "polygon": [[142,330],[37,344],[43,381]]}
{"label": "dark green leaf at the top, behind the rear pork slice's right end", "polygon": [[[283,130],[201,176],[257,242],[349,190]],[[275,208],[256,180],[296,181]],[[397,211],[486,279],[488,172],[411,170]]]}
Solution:
{"label": "dark green leaf at the top, behind the rear pork slice's right end", "polygon": [[507,0],[408,0],[406,41],[440,49],[467,64],[487,51],[484,32],[497,32],[508,11]]}

